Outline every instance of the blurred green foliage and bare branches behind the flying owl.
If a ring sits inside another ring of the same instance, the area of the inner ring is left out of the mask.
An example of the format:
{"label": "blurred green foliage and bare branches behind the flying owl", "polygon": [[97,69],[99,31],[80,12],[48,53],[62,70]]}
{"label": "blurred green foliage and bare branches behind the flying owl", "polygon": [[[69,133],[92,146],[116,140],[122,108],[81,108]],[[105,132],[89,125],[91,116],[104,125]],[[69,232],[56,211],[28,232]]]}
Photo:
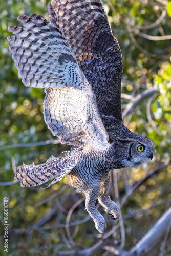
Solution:
{"label": "blurred green foliage and bare branches behind the flying owl", "polygon": [[[0,0],[0,221],[3,224],[7,197],[8,255],[66,255],[64,251],[91,248],[102,238],[84,209],[84,198],[67,185],[67,178],[47,189],[42,189],[46,185],[21,188],[19,183],[3,183],[13,180],[15,165],[44,163],[68,149],[47,129],[42,114],[44,90],[24,87],[8,50],[8,26],[18,25],[21,14],[39,13],[48,19],[48,2]],[[155,145],[151,163],[111,172],[110,195],[122,207],[120,222],[112,221],[97,204],[108,225],[105,233],[113,230],[109,242],[129,250],[171,204],[171,2],[109,0],[103,4],[123,56],[124,124]],[[2,245],[3,229],[0,232]],[[170,254],[168,229],[164,247],[159,244],[148,255]],[[3,248],[1,255],[7,255]],[[91,255],[114,254],[100,246]]]}

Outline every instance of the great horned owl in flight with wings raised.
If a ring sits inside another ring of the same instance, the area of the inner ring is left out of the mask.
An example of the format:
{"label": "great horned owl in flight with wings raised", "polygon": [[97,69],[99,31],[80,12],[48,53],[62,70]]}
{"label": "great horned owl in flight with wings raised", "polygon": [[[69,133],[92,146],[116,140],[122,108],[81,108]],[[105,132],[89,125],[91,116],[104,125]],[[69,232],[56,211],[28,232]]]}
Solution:
{"label": "great horned owl in flight with wings raised", "polygon": [[50,185],[69,177],[86,195],[86,209],[102,233],[99,203],[111,218],[119,209],[108,195],[109,172],[138,167],[153,158],[152,141],[122,122],[122,55],[100,0],[52,0],[49,23],[39,14],[22,15],[11,26],[10,50],[25,86],[45,88],[44,118],[62,144],[65,157],[35,166],[18,166],[21,186]]}

